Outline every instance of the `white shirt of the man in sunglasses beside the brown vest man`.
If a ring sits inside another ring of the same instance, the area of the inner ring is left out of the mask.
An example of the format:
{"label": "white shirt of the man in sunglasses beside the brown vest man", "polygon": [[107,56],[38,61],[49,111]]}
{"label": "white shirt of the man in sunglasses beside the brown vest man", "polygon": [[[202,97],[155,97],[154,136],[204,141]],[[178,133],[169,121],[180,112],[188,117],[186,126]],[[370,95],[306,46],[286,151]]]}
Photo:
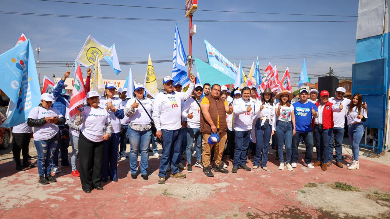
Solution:
{"label": "white shirt of the man in sunglasses beside the brown vest man", "polygon": [[[192,98],[188,98],[183,105],[181,115],[187,118],[188,128],[200,128],[200,99],[197,100],[199,104]],[[188,114],[192,113],[193,117],[188,118]]]}

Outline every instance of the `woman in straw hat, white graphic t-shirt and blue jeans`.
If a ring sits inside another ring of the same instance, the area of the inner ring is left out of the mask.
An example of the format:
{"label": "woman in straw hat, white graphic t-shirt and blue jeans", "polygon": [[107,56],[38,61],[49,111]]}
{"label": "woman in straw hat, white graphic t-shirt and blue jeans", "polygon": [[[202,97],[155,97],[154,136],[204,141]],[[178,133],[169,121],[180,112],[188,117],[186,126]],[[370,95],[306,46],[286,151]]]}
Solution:
{"label": "woman in straw hat, white graphic t-shirt and blue jeans", "polygon": [[[293,141],[293,135],[295,134],[295,115],[294,115],[294,106],[290,104],[291,99],[293,99],[293,94],[284,90],[276,95],[276,99],[279,102],[275,105],[275,124],[272,128],[271,134],[275,132],[277,144],[278,144],[278,154],[279,154],[279,170],[284,170],[284,160],[283,160],[283,145],[285,143],[286,147],[286,168],[288,171],[294,171],[291,167],[291,144]],[[292,124],[291,124],[292,123]]]}

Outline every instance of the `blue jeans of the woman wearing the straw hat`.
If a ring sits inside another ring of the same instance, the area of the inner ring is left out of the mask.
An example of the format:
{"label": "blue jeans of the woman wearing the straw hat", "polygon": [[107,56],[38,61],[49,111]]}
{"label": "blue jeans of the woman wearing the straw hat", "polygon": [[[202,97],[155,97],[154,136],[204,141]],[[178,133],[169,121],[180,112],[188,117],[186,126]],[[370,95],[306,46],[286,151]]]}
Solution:
{"label": "blue jeans of the woman wearing the straw hat", "polygon": [[278,145],[279,161],[281,163],[284,162],[283,145],[285,142],[286,164],[289,164],[291,161],[291,143],[293,141],[293,127],[291,126],[291,122],[282,122],[278,120],[275,129],[276,129],[275,135],[276,135],[276,140]]}

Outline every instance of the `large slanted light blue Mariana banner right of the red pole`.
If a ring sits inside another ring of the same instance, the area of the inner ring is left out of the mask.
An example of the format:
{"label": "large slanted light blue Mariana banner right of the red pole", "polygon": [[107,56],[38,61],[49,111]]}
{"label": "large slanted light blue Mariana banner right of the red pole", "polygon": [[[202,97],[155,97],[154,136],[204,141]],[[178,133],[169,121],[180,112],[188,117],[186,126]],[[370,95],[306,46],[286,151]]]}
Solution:
{"label": "large slanted light blue Mariana banner right of the red pole", "polygon": [[[213,45],[204,39],[204,45],[206,46],[207,59],[209,65],[218,69],[223,74],[229,76],[233,81],[236,79],[237,67],[234,66],[225,56],[223,56]],[[203,79],[203,77],[202,77]],[[221,83],[223,84],[223,83]]]}

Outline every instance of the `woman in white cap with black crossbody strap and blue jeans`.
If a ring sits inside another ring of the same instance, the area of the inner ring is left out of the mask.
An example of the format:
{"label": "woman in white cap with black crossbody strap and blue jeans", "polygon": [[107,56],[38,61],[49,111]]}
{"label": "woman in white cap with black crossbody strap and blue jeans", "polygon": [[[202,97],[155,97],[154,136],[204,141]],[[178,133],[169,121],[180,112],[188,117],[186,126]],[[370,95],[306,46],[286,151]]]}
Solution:
{"label": "woman in white cap with black crossbody strap and blue jeans", "polygon": [[153,102],[144,96],[144,91],[142,84],[138,83],[134,86],[135,97],[127,102],[125,114],[129,117],[127,135],[130,142],[131,178],[137,178],[138,150],[141,148],[141,176],[144,180],[148,180],[148,150],[152,136],[151,116]]}

